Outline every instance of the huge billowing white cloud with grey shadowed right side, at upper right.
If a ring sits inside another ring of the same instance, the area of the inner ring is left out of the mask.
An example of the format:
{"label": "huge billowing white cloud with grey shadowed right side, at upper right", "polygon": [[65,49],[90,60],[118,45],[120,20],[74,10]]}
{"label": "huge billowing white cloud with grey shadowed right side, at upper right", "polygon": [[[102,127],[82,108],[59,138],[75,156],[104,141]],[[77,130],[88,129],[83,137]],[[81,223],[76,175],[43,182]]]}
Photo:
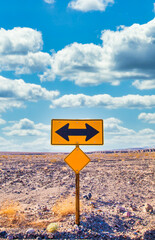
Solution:
{"label": "huge billowing white cloud with grey shadowed right side, at upper right", "polygon": [[155,19],[116,31],[104,30],[101,40],[102,45],[72,43],[53,54],[51,69],[44,72],[42,80],[58,76],[88,86],[155,79]]}

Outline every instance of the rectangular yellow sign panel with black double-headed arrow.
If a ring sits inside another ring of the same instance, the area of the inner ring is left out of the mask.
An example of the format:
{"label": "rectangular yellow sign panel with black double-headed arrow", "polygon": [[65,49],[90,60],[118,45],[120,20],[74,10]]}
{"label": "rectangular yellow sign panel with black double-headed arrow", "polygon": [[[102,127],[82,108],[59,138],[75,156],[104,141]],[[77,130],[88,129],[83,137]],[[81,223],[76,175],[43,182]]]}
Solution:
{"label": "rectangular yellow sign panel with black double-headed arrow", "polygon": [[51,122],[53,145],[102,145],[103,120],[53,119]]}

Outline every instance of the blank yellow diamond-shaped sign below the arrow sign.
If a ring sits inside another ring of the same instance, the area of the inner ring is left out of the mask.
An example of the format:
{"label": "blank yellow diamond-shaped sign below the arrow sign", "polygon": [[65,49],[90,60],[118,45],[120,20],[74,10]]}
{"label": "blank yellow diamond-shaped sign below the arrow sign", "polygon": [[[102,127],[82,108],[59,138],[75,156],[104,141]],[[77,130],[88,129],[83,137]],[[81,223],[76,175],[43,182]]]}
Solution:
{"label": "blank yellow diamond-shaped sign below the arrow sign", "polygon": [[79,147],[76,147],[65,158],[65,162],[73,169],[73,171],[75,171],[75,173],[79,173],[90,162],[90,159]]}

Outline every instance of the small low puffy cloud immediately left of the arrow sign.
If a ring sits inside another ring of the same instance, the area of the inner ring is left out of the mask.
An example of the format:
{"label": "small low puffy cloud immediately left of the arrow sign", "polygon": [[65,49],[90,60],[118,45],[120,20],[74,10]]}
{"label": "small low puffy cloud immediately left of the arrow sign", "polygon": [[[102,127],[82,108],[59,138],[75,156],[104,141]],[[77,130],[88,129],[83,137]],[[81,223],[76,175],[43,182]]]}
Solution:
{"label": "small low puffy cloud immediately left of the arrow sign", "polygon": [[3,128],[7,136],[46,136],[50,131],[50,125],[42,123],[35,124],[33,121],[24,118],[12,126]]}

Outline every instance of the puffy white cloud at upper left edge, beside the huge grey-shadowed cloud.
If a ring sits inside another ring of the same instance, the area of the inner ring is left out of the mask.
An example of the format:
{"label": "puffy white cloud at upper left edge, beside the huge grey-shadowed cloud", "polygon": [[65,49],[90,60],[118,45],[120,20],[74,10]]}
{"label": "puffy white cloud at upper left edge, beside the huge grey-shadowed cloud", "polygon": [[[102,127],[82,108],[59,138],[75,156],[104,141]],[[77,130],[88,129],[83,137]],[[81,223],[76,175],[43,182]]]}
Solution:
{"label": "puffy white cloud at upper left edge, beside the huge grey-shadowed cloud", "polygon": [[51,56],[42,52],[42,34],[31,28],[0,29],[0,71],[16,74],[41,73],[51,66]]}

